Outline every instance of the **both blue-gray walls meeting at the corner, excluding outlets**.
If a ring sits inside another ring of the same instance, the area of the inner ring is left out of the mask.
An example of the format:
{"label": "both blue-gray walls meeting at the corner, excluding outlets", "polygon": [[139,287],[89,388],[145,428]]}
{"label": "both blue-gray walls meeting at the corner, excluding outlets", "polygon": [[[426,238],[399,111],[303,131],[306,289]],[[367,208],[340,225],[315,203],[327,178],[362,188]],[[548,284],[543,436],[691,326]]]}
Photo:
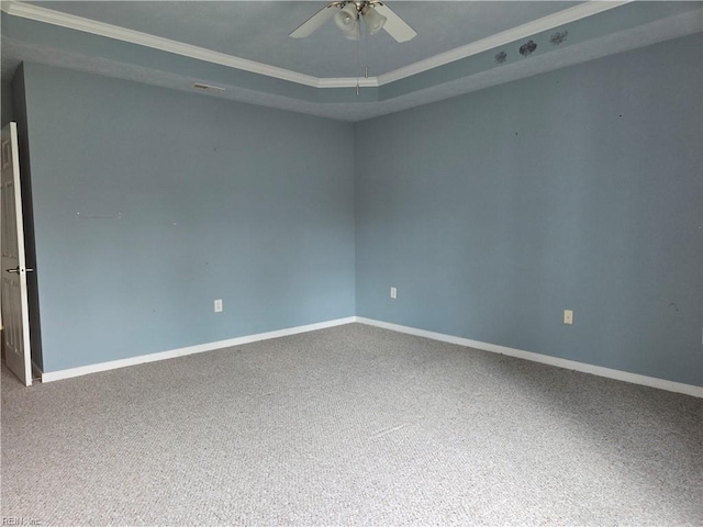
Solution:
{"label": "both blue-gray walls meeting at the corner, excluding outlets", "polygon": [[356,125],[27,64],[43,369],[357,314],[703,385],[701,48]]}

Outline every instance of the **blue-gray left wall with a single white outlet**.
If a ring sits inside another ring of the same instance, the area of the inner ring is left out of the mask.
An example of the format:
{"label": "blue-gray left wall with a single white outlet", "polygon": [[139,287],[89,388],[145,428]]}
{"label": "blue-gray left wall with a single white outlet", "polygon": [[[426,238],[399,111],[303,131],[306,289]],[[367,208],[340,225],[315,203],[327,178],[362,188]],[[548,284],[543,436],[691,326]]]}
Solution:
{"label": "blue-gray left wall with a single white outlet", "polygon": [[45,372],[354,315],[350,124],[24,81]]}

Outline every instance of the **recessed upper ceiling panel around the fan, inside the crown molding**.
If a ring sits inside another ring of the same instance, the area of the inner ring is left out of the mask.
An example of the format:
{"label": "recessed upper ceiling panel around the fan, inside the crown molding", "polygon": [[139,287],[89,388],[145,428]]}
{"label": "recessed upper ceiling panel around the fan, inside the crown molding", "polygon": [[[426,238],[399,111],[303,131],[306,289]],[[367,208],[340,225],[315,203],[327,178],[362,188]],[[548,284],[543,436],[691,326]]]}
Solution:
{"label": "recessed upper ceiling panel around the fan, inside the crown molding", "polygon": [[390,1],[417,36],[399,44],[381,31],[346,41],[334,23],[308,38],[288,35],[326,2],[32,2],[314,77],[379,76],[582,2]]}

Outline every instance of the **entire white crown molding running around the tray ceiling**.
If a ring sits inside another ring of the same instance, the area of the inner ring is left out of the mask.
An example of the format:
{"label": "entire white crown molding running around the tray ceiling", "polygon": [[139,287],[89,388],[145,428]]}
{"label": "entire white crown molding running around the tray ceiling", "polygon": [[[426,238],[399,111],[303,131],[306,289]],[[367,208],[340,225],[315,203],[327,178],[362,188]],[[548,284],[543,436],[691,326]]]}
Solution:
{"label": "entire white crown molding running around the tray ceiling", "polygon": [[[378,87],[389,82],[394,82],[406,77],[412,77],[413,75],[422,74],[423,71],[427,71],[438,66],[444,66],[488,49],[509,44],[520,38],[532,36],[536,33],[542,33],[543,31],[548,31],[577,20],[602,13],[610,9],[618,8],[634,0],[590,0],[584,3],[579,3],[572,8],[568,8],[547,16],[543,16],[542,19],[527,22],[526,24],[496,33],[495,35],[472,42],[466,46],[457,47],[446,53],[435,55],[434,57],[420,60],[403,68],[395,69],[394,71],[390,71],[378,77],[359,79],[359,86]],[[319,78],[311,75],[299,74],[277,66],[269,66],[267,64],[248,60],[234,55],[227,55],[225,53],[213,52],[211,49],[185,44],[182,42],[171,41],[170,38],[127,30],[125,27],[107,24],[104,22],[76,16],[74,14],[62,13],[59,11],[54,11],[53,9],[27,4],[20,0],[2,1],[1,9],[13,16],[58,25],[69,30],[82,31],[93,35],[114,38],[154,49],[160,49],[163,52],[174,53],[176,55],[182,55],[185,57],[244,71],[250,71],[253,74],[264,75],[290,82],[297,82],[299,85],[310,86],[313,88],[354,88],[357,85],[356,78]]]}

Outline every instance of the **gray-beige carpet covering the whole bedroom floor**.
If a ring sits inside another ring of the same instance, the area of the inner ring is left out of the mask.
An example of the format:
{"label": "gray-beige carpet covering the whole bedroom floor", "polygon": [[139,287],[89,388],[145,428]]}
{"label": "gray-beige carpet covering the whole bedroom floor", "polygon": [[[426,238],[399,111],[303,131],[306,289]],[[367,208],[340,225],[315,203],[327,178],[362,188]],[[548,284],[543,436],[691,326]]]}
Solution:
{"label": "gray-beige carpet covering the whole bedroom floor", "polygon": [[[359,324],[22,388],[41,525],[701,525],[703,401]],[[5,520],[7,525],[7,520]]]}

